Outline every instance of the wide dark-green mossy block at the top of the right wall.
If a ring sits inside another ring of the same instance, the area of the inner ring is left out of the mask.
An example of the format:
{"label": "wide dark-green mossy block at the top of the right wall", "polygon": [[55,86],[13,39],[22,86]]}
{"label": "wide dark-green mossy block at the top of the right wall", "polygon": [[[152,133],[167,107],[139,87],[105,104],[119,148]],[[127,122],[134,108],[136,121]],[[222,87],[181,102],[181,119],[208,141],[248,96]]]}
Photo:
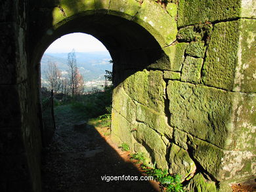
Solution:
{"label": "wide dark-green mossy block at the top of the right wall", "polygon": [[178,26],[238,18],[240,9],[241,0],[180,0]]}

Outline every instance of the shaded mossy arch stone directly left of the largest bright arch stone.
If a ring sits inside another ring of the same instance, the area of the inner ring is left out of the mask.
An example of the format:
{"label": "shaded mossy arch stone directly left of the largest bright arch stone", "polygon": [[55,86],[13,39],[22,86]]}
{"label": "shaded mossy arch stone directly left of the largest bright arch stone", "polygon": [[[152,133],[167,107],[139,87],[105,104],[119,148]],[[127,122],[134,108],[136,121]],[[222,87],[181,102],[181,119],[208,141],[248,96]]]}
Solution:
{"label": "shaded mossy arch stone directly left of the largest bright arch stone", "polygon": [[131,20],[140,9],[140,3],[136,0],[119,1],[111,0],[108,14],[121,16]]}

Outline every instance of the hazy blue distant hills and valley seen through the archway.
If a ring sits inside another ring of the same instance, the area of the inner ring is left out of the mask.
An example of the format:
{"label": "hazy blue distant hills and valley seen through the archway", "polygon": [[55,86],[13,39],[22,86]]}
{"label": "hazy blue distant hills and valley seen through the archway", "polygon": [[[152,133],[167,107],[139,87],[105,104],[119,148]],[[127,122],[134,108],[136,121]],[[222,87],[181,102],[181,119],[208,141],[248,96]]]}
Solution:
{"label": "hazy blue distant hills and valley seen through the archway", "polygon": [[[77,67],[85,81],[104,80],[105,70],[112,71],[108,52],[75,52]],[[41,59],[41,78],[45,79],[47,62],[55,62],[61,71],[67,71],[68,53],[46,53]]]}

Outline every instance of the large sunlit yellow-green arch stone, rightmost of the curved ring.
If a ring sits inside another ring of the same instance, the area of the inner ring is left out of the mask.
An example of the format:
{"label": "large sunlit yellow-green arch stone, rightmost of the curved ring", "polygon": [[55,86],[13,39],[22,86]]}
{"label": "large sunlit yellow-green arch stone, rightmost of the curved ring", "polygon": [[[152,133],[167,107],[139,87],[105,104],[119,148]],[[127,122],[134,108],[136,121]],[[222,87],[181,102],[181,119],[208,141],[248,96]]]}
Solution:
{"label": "large sunlit yellow-green arch stone, rightmost of the curved ring", "polygon": [[160,46],[164,47],[176,39],[177,22],[175,16],[176,13],[174,16],[170,16],[158,3],[144,0],[133,21],[147,29],[160,43]]}

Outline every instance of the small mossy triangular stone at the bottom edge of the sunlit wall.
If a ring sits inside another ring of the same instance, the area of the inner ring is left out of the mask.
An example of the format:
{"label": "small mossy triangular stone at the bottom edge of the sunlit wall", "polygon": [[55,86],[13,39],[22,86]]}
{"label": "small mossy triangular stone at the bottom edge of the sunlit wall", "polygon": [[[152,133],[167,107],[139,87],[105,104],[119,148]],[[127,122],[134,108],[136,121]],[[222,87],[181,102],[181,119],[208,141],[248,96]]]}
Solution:
{"label": "small mossy triangular stone at the bottom edge of the sunlit wall", "polygon": [[188,189],[191,192],[198,191],[198,192],[216,192],[216,185],[215,182],[212,182],[210,180],[206,180],[203,177],[203,174],[198,173],[186,186],[186,189]]}

